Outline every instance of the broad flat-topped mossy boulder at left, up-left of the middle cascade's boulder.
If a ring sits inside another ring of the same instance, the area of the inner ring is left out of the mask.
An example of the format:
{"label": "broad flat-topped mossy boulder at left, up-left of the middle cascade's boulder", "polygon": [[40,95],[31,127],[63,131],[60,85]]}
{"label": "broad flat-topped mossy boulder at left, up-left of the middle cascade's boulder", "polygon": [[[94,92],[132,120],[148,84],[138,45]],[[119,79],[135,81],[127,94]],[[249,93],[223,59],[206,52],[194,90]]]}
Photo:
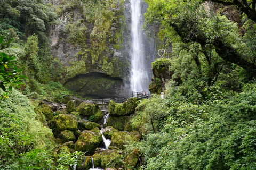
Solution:
{"label": "broad flat-topped mossy boulder at left, up-left of the middle cascade's boulder", "polygon": [[53,118],[53,121],[57,132],[65,130],[77,131],[77,118],[74,115],[59,114]]}

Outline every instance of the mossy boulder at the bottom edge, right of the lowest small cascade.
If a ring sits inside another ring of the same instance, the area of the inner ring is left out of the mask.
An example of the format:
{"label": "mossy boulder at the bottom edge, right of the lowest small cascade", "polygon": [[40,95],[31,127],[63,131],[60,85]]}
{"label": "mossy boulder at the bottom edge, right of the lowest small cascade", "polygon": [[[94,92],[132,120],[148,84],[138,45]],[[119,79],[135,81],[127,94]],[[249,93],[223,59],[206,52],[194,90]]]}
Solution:
{"label": "mossy boulder at the bottom edge, right of the lowest small cascade", "polygon": [[123,155],[119,154],[116,149],[106,149],[100,156],[100,165],[103,168],[119,168],[123,165]]}

